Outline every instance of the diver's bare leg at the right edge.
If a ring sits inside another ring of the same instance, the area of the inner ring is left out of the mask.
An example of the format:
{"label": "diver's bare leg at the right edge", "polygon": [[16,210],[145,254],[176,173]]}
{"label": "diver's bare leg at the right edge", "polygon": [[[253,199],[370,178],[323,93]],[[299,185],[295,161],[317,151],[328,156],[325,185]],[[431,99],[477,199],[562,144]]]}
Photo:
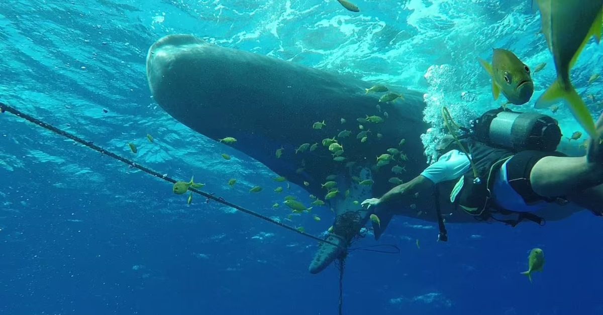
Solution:
{"label": "diver's bare leg at the right edge", "polygon": [[[597,121],[603,133],[603,115]],[[543,197],[573,194],[603,183],[603,144],[590,139],[586,156],[580,158],[547,156],[532,168],[530,182],[534,192]]]}

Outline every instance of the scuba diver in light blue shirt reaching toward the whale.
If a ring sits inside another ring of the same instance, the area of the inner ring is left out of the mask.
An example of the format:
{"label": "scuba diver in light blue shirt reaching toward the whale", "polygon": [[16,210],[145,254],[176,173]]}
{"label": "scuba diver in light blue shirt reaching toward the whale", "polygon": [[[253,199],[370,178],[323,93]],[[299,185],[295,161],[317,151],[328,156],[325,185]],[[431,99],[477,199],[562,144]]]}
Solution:
{"label": "scuba diver in light blue shirt reaching toward the whale", "polygon": [[[602,135],[603,115],[596,127]],[[554,211],[552,205],[603,213],[601,138],[589,140],[586,155],[569,157],[555,151],[561,140],[555,119],[503,108],[490,110],[473,120],[469,128],[460,129],[464,135],[449,128],[450,134],[438,142],[437,162],[382,197],[364,200],[362,206],[379,216],[405,202],[406,197],[434,189],[443,241],[446,229],[440,207],[444,206],[452,214],[463,211],[478,220],[511,226],[523,220],[544,224],[534,212]],[[500,219],[503,217],[513,220]],[[373,224],[373,228],[377,227]]]}

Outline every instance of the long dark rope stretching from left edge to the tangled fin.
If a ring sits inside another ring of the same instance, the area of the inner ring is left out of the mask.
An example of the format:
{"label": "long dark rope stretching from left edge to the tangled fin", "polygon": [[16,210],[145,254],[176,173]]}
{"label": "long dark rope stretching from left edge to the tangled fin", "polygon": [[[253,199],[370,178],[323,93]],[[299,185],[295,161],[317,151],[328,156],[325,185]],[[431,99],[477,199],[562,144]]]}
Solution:
{"label": "long dark rope stretching from left edge to the tangled fin", "polygon": [[[78,136],[73,135],[72,133],[66,132],[65,130],[58,129],[57,127],[54,127],[51,124],[44,123],[40,119],[34,118],[33,116],[27,115],[26,113],[23,113],[23,112],[15,109],[14,107],[8,106],[7,104],[4,104],[4,103],[0,102],[0,113],[3,113],[3,112],[9,112],[9,113],[12,113],[15,116],[19,116],[19,117],[21,117],[21,118],[23,118],[23,119],[25,119],[27,121],[30,121],[31,123],[34,123],[34,124],[36,124],[36,125],[38,125],[38,126],[40,126],[42,128],[50,130],[51,132],[57,133],[58,135],[64,136],[66,138],[72,139],[75,142],[79,142],[80,144],[83,144],[86,147],[91,148],[92,150],[98,151],[101,154],[105,154],[105,155],[109,156],[110,158],[113,158],[113,159],[116,159],[118,161],[124,162],[125,164],[129,165],[130,167],[137,168],[137,169],[139,169],[141,171],[144,171],[147,174],[150,174],[150,175],[155,176],[155,177],[157,177],[159,179],[165,180],[166,182],[170,182],[170,183],[176,183],[177,182],[175,179],[172,179],[171,177],[169,177],[167,175],[162,175],[160,173],[157,173],[156,171],[151,170],[150,168],[147,168],[147,167],[144,167],[142,165],[136,164],[133,161],[131,161],[130,159],[124,158],[123,156],[119,156],[118,154],[115,154],[115,153],[113,153],[111,151],[107,151],[104,148],[101,148],[98,145],[93,144],[92,141],[85,141],[84,139],[81,139]],[[251,210],[249,210],[247,208],[243,208],[242,206],[235,205],[234,203],[227,202],[222,197],[216,197],[216,196],[213,196],[213,194],[205,193],[203,191],[200,191],[200,190],[192,188],[192,187],[189,188],[188,190],[190,190],[190,191],[192,191],[192,192],[194,192],[196,194],[200,194],[201,196],[204,196],[207,199],[215,200],[216,202],[219,202],[219,203],[221,203],[223,205],[235,208],[238,211],[244,212],[246,214],[253,215],[256,218],[260,218],[260,219],[262,219],[264,221],[268,221],[270,223],[276,224],[277,226],[280,226],[281,228],[288,229],[289,231],[296,232],[298,234],[304,235],[305,237],[312,238],[313,240],[316,240],[316,241],[319,241],[319,242],[322,242],[322,243],[327,243],[327,244],[333,245],[335,247],[340,247],[338,244],[332,243],[332,242],[327,241],[327,240],[323,240],[320,237],[315,237],[312,234],[308,234],[306,232],[299,231],[298,229],[293,228],[292,226],[288,226],[286,224],[280,223],[279,221],[273,220],[273,219],[271,219],[269,217],[266,217],[265,215],[262,215],[262,214],[259,214],[257,212],[251,211]]]}

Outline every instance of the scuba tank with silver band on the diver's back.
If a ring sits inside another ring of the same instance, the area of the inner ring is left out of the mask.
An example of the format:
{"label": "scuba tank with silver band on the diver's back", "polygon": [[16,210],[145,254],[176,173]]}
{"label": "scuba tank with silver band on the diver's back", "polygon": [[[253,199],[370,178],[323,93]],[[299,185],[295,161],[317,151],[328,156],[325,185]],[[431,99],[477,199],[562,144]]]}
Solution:
{"label": "scuba tank with silver band on the diver's back", "polygon": [[472,120],[470,135],[490,147],[514,152],[555,151],[561,142],[561,129],[551,116],[505,109],[488,110]]}

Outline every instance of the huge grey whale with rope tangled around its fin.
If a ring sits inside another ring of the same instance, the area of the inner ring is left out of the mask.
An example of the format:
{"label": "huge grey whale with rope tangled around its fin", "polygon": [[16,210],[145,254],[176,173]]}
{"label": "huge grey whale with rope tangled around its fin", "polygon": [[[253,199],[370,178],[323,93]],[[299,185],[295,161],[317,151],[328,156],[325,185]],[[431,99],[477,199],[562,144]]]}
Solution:
{"label": "huge grey whale with rope tangled around its fin", "polygon": [[[289,182],[304,187],[323,199],[327,191],[321,183],[330,174],[337,174],[341,193],[327,200],[335,211],[333,231],[321,243],[309,271],[318,273],[333,260],[344,255],[345,248],[368,221],[371,214],[353,200],[381,196],[394,185],[388,182],[393,165],[376,169],[376,156],[388,148],[399,148],[408,161],[399,161],[406,168],[402,180],[408,181],[426,167],[421,133],[423,94],[415,91],[395,91],[403,101],[379,104],[380,94],[365,94],[373,86],[355,78],[297,65],[292,62],[261,56],[246,51],[211,45],[198,37],[174,34],[157,40],[147,54],[147,78],[154,100],[173,118],[216,141],[234,137],[232,145],[266,165]],[[378,115],[388,118],[379,124],[364,123],[370,130],[368,140],[356,138],[360,132],[357,118]],[[341,123],[341,118],[346,123]],[[322,129],[314,123],[324,121]],[[350,130],[348,138],[338,139],[343,145],[344,162],[333,161],[332,152],[323,147],[325,138],[333,138]],[[377,133],[382,136],[377,137]],[[399,142],[405,139],[405,144]],[[295,153],[302,144],[318,144],[317,150]],[[283,148],[280,158],[276,150]],[[348,161],[356,162],[346,167]],[[358,185],[352,176],[374,180],[372,186]],[[309,186],[303,182],[309,182]],[[350,189],[349,198],[344,191]],[[447,196],[442,196],[446,199]],[[433,209],[434,199],[421,196],[413,201],[417,209]],[[387,228],[393,215],[435,221],[434,215],[411,210],[408,203],[392,205],[388,215],[380,217],[381,230]],[[557,212],[561,213],[561,212]],[[446,218],[450,223],[474,222],[464,212]]]}

